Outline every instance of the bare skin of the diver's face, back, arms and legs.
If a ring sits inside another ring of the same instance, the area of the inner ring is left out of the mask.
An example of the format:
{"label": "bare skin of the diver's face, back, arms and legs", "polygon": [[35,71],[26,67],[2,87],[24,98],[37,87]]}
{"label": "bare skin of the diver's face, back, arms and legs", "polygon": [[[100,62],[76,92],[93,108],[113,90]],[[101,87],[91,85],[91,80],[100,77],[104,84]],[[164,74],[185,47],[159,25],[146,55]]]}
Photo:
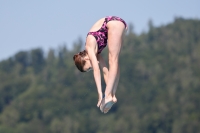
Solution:
{"label": "bare skin of the diver's face, back, arms and legs", "polygon": [[[97,31],[103,24],[104,18],[97,21],[90,32]],[[106,66],[104,59],[102,58],[101,54],[97,54],[98,47],[97,42],[92,35],[88,35],[86,39],[85,49],[87,51],[87,56],[85,56],[84,60],[86,64],[84,66],[85,71],[89,71],[90,69],[93,70],[95,83],[97,86],[98,91],[98,103],[97,106],[100,107],[102,101],[102,86],[101,86],[101,74],[100,68],[103,71],[104,80],[106,83],[105,89],[105,103],[109,101],[117,102],[117,98],[115,96],[118,82],[119,82],[119,75],[120,75],[120,68],[118,65],[119,53],[121,50],[122,45],[122,35],[125,30],[125,25],[120,21],[110,21],[107,23],[108,27],[108,59],[109,59],[109,69]],[[110,108],[104,108],[103,112],[107,113]]]}

